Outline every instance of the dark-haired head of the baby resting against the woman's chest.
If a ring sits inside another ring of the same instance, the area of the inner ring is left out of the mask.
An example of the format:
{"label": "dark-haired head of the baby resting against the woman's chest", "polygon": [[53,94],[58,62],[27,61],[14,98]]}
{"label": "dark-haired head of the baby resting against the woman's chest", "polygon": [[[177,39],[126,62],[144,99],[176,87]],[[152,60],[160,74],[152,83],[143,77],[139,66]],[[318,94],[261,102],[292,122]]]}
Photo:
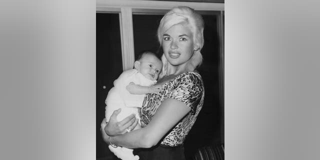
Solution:
{"label": "dark-haired head of the baby resting against the woman's chest", "polygon": [[144,51],[134,61],[134,68],[150,80],[156,80],[162,69],[162,61],[153,52]]}

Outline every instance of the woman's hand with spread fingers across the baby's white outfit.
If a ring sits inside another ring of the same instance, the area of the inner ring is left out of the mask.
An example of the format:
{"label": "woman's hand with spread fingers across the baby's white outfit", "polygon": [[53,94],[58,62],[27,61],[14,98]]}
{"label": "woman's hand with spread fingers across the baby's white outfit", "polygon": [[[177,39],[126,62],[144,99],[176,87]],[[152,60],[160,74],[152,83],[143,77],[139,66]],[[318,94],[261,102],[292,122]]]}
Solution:
{"label": "woman's hand with spread fingers across the baby's white outfit", "polygon": [[[110,116],[109,122],[106,123],[104,126],[104,131],[109,136],[123,134],[127,132],[127,130],[132,130],[138,123],[138,119],[135,118],[134,114],[127,116],[121,121],[117,121],[116,116],[120,113],[120,111],[121,111],[121,108],[114,110],[112,115]],[[105,121],[105,119],[103,120]],[[102,123],[104,123],[103,120],[101,122],[101,127],[102,127]]]}

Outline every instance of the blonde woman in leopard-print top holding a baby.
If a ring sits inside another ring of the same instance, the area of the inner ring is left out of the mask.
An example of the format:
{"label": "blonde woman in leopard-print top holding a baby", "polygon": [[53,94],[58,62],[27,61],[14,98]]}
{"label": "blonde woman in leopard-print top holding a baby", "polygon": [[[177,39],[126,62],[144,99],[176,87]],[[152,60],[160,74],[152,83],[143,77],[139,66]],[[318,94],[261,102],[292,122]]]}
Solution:
{"label": "blonde woman in leopard-print top holding a baby", "polygon": [[[139,109],[141,129],[137,120],[128,116],[120,122],[115,111],[106,124],[102,120],[104,141],[138,149],[140,159],[184,159],[183,141],[203,105],[203,81],[195,68],[202,62],[203,19],[186,6],[168,11],[160,21],[158,40],[163,49],[162,72],[157,84],[158,94],[146,94]],[[126,132],[122,134],[123,132]]]}

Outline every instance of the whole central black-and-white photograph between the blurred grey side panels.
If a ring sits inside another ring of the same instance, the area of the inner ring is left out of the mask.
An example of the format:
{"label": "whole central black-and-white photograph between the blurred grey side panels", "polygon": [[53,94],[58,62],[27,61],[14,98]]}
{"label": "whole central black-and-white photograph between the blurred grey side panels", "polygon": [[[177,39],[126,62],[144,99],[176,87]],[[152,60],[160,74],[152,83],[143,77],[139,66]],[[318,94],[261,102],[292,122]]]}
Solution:
{"label": "whole central black-and-white photograph between the blurred grey side panels", "polygon": [[224,1],[96,2],[96,159],[224,159]]}

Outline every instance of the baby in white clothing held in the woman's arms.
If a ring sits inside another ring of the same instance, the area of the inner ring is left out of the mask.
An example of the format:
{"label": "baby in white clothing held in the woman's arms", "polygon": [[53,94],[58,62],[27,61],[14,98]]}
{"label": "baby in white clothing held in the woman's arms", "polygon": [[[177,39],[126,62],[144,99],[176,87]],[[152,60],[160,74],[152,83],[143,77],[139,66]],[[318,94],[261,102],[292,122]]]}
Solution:
{"label": "baby in white clothing held in the woman's arms", "polygon": [[[161,60],[150,51],[142,52],[136,61],[134,69],[123,71],[120,76],[114,80],[113,87],[109,90],[105,99],[105,118],[109,121],[114,110],[121,108],[117,115],[120,121],[128,115],[134,113],[138,119],[138,125],[134,129],[140,128],[140,118],[137,109],[142,106],[143,98],[146,93],[157,93],[161,85],[156,83],[158,75],[162,69]],[[128,132],[130,130],[127,130]],[[133,149],[125,147],[112,147],[110,150],[123,160],[137,160],[139,156],[133,155]]]}

